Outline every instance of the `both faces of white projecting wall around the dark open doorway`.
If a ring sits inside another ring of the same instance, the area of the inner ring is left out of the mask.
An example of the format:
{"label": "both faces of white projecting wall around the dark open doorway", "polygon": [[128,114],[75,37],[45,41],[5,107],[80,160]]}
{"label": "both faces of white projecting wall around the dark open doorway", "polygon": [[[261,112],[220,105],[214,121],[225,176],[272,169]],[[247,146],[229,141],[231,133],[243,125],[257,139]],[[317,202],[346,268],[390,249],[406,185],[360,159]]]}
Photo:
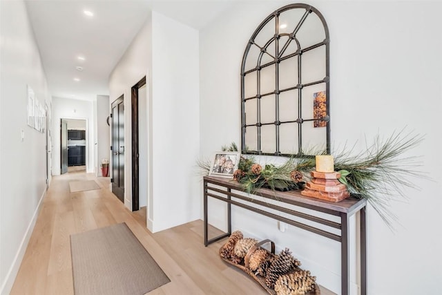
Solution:
{"label": "both faces of white projecting wall around the dark open doorway", "polygon": [[[171,37],[173,36],[173,37]],[[146,75],[147,223],[160,231],[200,216],[198,31],[152,12],[111,74],[111,101],[124,93],[125,145],[131,150],[131,87]],[[131,207],[131,154],[126,153],[125,204]],[[171,189],[173,187],[173,189]],[[140,196],[144,198],[144,196]]]}

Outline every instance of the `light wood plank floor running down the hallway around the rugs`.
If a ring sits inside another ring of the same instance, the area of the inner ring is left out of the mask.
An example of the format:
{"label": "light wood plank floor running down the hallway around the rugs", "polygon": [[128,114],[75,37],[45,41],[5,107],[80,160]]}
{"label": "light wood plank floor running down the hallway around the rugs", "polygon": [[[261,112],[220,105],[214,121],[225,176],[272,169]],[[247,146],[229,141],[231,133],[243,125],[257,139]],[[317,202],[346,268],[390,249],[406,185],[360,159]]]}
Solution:
{"label": "light wood plank floor running down the hallway around the rugs", "polygon": [[[77,180],[96,180],[102,189],[70,193],[69,182]],[[119,222],[126,222],[171,279],[148,294],[267,294],[220,259],[226,240],[204,247],[202,220],[151,234],[146,208],[128,211],[109,186],[109,178],[84,171],[52,178],[11,294],[73,294],[70,234]]]}

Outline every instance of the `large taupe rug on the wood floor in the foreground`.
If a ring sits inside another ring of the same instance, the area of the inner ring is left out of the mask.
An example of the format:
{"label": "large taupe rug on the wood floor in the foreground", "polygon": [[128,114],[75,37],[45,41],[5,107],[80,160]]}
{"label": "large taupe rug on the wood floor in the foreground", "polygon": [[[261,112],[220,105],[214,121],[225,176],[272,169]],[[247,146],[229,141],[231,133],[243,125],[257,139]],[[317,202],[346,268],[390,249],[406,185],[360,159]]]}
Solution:
{"label": "large taupe rug on the wood floor in the foreground", "polygon": [[74,293],[146,294],[171,280],[126,223],[70,236]]}

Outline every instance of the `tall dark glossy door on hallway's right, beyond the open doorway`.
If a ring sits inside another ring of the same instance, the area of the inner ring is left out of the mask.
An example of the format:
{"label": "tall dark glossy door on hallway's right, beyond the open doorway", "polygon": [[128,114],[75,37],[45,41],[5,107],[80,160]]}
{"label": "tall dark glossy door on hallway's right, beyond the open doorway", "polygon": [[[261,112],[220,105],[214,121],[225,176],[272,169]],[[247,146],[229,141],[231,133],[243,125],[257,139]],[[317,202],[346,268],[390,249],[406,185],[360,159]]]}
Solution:
{"label": "tall dark glossy door on hallway's right, beyond the open doorway", "polygon": [[112,103],[112,192],[124,202],[124,97]]}

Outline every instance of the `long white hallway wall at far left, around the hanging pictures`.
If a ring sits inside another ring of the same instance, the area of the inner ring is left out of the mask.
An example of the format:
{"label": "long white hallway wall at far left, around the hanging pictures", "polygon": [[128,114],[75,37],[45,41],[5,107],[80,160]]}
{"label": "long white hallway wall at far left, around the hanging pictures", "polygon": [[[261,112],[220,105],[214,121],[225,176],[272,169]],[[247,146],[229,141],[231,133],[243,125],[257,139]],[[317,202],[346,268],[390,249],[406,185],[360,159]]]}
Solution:
{"label": "long white hallway wall at far left, around the hanging pictures", "polygon": [[0,1],[0,11],[0,294],[9,294],[46,190],[46,134],[27,125],[27,86],[41,104],[51,99],[23,1]]}

